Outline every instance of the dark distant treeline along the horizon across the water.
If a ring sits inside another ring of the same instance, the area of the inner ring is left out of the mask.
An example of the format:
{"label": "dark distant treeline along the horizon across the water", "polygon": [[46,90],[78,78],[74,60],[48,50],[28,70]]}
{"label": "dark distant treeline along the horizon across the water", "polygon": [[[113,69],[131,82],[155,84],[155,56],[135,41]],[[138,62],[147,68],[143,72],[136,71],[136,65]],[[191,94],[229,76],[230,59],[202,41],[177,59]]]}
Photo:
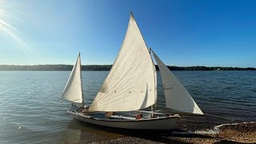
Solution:
{"label": "dark distant treeline along the horizon across the water", "polygon": [[[110,70],[112,65],[86,65],[82,66],[82,70]],[[72,70],[72,65],[33,65],[33,66],[20,66],[20,65],[0,65],[0,70]],[[158,70],[158,66],[156,66]],[[221,67],[221,66],[168,66],[170,70],[256,70],[254,67]]]}

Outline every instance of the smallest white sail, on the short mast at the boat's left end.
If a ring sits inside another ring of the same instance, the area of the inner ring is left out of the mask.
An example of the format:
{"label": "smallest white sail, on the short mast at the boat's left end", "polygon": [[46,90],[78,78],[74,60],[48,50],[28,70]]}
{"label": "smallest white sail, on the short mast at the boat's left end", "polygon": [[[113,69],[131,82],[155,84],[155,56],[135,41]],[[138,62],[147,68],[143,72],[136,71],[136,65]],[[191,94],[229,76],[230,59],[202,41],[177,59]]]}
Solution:
{"label": "smallest white sail, on the short mast at the boat's left end", "polygon": [[71,71],[70,78],[66,82],[62,98],[66,98],[71,102],[83,103],[80,53],[78,54],[78,60]]}

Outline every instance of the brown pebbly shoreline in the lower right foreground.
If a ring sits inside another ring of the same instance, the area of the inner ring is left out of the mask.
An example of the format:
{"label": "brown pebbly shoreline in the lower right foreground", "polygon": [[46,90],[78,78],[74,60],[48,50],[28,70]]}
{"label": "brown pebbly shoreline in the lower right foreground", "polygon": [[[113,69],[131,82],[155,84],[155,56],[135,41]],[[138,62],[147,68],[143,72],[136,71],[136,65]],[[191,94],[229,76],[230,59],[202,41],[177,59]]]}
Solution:
{"label": "brown pebbly shoreline in the lower right foreground", "polygon": [[[192,133],[186,130],[123,130],[120,137],[92,143],[256,143],[256,123],[218,126],[211,130]],[[205,132],[205,133],[203,133]]]}

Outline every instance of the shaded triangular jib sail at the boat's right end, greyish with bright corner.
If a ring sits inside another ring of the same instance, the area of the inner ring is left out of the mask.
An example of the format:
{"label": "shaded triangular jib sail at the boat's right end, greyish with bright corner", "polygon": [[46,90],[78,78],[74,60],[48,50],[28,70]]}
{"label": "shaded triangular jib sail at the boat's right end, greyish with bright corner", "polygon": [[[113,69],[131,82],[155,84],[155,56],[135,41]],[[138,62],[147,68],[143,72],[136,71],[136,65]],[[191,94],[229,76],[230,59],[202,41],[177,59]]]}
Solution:
{"label": "shaded triangular jib sail at the boat's right end, greyish with bright corner", "polygon": [[178,78],[176,78],[160,58],[154,54],[153,50],[151,50],[151,52],[158,63],[158,68],[162,76],[163,90],[166,96],[166,107],[183,113],[203,114],[186,88],[178,81]]}

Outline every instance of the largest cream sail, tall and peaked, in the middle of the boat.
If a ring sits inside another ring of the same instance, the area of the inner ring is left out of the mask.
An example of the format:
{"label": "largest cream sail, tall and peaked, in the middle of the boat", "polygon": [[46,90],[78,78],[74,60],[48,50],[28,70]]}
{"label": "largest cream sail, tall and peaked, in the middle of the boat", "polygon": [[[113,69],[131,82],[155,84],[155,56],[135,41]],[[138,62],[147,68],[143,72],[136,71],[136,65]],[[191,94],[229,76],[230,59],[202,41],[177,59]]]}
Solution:
{"label": "largest cream sail, tall and peaked, in the middle of the boat", "polygon": [[156,103],[156,79],[150,53],[134,16],[118,56],[90,111],[140,110]]}

